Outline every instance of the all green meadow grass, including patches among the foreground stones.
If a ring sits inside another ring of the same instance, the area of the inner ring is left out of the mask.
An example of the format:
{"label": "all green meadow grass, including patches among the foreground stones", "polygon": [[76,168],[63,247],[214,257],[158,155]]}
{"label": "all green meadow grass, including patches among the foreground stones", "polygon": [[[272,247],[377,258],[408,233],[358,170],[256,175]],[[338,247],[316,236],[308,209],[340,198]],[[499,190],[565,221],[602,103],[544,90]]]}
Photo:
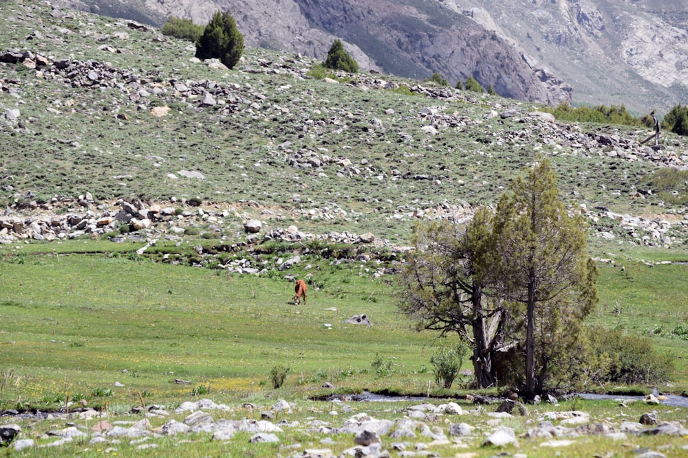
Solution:
{"label": "all green meadow grass, including patches among the foreground stones", "polygon": [[[113,245],[120,251],[113,251]],[[398,299],[390,282],[393,277],[374,279],[371,266],[364,262],[334,266],[327,260],[307,257],[304,262],[312,266],[308,271],[290,269],[256,277],[162,264],[127,253],[140,244],[122,249],[121,244],[110,243],[107,250],[98,249],[107,246],[103,242],[77,240],[54,246],[62,253],[41,253],[40,244],[0,248],[1,409],[51,411],[64,409],[65,402],[85,400],[107,412],[111,422],[133,422],[143,416],[131,413],[131,409],[142,404],[172,410],[184,401],[211,398],[230,406],[230,411],[222,414],[208,411],[211,415],[259,420],[259,411],[241,406],[252,402],[261,410],[269,410],[277,399],[286,399],[294,406],[283,414],[288,422],[336,422],[330,411],[338,410],[341,404],[314,399],[363,390],[416,396],[430,393],[456,400],[464,411],[475,409],[463,400],[466,393],[474,392],[468,388],[469,376],[461,376],[450,390],[436,388],[429,362],[433,334],[409,328],[409,322],[396,309]],[[23,249],[27,253],[17,255]],[[688,286],[682,285],[681,279],[687,268],[685,264],[651,267],[628,262],[623,270],[620,266],[600,269],[601,301],[591,322],[640,332],[652,339],[659,352],[676,356],[674,378],[670,385],[657,387],[660,393],[680,394],[688,388],[688,340],[685,334],[672,333],[686,322]],[[310,282],[320,286],[310,287],[306,306],[289,304],[293,284],[281,276],[290,274],[311,274]],[[671,295],[663,294],[667,288]],[[660,297],[662,306],[658,307]],[[343,322],[359,313],[368,315],[372,327]],[[372,365],[376,358],[383,361],[382,369]],[[290,368],[279,389],[273,388],[270,380],[270,370],[277,365]],[[471,368],[469,361],[464,361],[463,368]],[[323,389],[324,382],[335,388]],[[652,386],[636,389],[649,393]],[[495,393],[491,390],[485,394]],[[354,409],[350,415],[365,412],[384,418],[400,415],[418,402],[349,404]],[[595,418],[621,415],[622,419],[637,420],[648,408],[636,403],[619,411],[618,402],[572,399],[556,407],[542,404],[529,409],[529,415],[512,417],[502,424],[520,435],[533,426],[533,415],[548,411],[582,410]],[[685,420],[685,408],[652,409],[662,420]],[[487,407],[474,411],[470,420],[460,416],[451,421],[469,421],[478,431],[489,431],[490,417],[486,414],[492,410]],[[171,417],[182,421],[186,415]],[[169,417],[150,417],[149,421],[153,427],[162,426]],[[76,424],[89,428],[95,422],[77,420]],[[43,423],[32,420],[36,431]],[[59,426],[54,420],[52,424]],[[103,453],[275,457],[288,454],[288,446],[294,444],[299,444],[294,450],[322,448],[319,441],[325,437],[289,428],[279,434],[281,444],[248,444],[249,436],[239,433],[226,443],[211,442],[203,433],[182,442],[165,437],[156,439],[157,448],[151,450],[137,449],[136,441],[107,448],[80,439],[59,449],[34,447],[30,455],[55,456],[59,450],[60,456],[84,457]],[[52,440],[31,433],[28,437],[35,437],[39,444]],[[334,443],[327,448],[334,453],[351,446],[349,435],[329,438]],[[634,448],[661,447],[667,456],[683,456],[680,440],[670,444],[667,439],[643,436],[630,439],[623,448],[630,453]],[[491,457],[498,450],[467,447],[457,449],[453,444],[438,450],[441,456],[470,450],[473,457]],[[517,450],[529,457],[549,457],[555,449],[522,439]],[[565,450],[570,457],[618,453],[619,442],[591,436]]]}

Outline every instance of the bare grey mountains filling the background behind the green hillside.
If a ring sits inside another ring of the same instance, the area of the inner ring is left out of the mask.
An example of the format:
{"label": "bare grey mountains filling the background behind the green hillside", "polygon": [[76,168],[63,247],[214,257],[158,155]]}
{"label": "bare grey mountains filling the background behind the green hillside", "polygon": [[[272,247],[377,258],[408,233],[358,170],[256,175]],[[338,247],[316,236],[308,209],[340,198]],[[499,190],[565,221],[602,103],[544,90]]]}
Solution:
{"label": "bare grey mountains filling the background behind the green hillside", "polygon": [[323,58],[343,38],[364,69],[440,71],[452,84],[472,75],[521,100],[665,113],[688,93],[688,6],[678,0],[65,1],[158,24],[229,9],[252,46]]}

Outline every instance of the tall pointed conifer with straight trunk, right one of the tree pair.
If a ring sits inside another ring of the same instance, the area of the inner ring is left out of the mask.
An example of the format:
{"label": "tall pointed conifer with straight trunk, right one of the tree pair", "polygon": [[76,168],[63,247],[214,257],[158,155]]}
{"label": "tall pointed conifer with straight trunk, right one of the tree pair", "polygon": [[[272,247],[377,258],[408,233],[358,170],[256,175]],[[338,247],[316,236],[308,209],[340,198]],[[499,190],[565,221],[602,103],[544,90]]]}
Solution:
{"label": "tall pointed conifer with straight trunk, right one of the tree pair", "polygon": [[585,221],[559,200],[548,159],[510,190],[495,212],[495,285],[515,304],[512,314],[525,312],[524,397],[533,399],[553,367],[576,357],[583,319],[597,301],[596,268],[586,253]]}

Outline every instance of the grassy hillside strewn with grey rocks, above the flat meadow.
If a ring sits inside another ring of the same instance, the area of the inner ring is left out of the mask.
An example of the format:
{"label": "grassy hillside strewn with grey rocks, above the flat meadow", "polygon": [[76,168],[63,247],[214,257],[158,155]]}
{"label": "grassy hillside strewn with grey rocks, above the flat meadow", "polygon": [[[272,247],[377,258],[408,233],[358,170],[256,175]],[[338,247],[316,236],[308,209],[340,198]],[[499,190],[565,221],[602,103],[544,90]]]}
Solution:
{"label": "grassy hillside strewn with grey rocks, above the flat meadow", "polygon": [[405,244],[418,218],[494,205],[538,154],[595,238],[688,238],[685,189],[654,181],[687,169],[675,135],[651,148],[646,129],[558,123],[517,100],[369,73],[313,80],[314,60],[262,49],[229,71],[152,27],[45,3],[0,13],[5,242],[196,227]]}

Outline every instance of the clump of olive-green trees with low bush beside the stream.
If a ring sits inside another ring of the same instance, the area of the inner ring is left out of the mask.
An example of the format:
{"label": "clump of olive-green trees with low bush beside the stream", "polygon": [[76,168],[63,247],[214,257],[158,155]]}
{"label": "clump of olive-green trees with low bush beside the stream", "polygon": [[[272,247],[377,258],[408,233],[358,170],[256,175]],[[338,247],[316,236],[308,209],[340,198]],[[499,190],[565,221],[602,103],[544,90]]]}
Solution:
{"label": "clump of olive-green trees with low bush beside the stream", "polygon": [[400,309],[418,330],[456,332],[469,343],[477,388],[515,386],[533,399],[589,382],[667,378],[671,361],[647,345],[617,336],[623,345],[615,346],[585,328],[596,265],[583,217],[569,215],[558,194],[544,160],[513,181],[494,211],[479,209],[466,225],[416,226]]}

